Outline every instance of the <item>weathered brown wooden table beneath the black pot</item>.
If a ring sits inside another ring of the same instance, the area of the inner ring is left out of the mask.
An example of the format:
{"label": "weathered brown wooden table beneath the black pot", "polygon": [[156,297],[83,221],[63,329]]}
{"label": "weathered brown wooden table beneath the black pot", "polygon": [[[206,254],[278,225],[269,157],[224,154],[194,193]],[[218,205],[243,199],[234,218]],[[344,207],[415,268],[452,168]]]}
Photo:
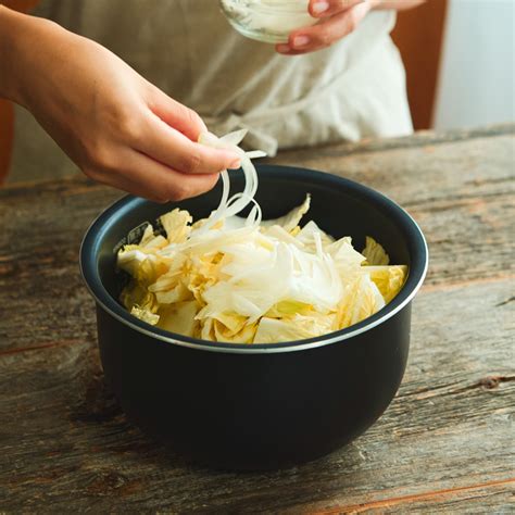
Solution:
{"label": "weathered brown wooden table beneath the black pot", "polygon": [[431,255],[399,394],[355,442],[304,466],[186,466],[102,382],[77,265],[120,193],[84,178],[0,191],[0,512],[515,510],[514,127],[281,154],[405,206]]}

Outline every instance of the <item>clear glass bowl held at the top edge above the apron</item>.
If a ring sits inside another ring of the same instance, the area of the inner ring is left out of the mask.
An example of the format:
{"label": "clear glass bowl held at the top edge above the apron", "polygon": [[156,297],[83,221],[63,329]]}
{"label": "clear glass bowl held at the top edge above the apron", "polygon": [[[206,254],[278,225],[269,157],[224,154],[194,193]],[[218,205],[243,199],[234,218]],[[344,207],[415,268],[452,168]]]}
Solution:
{"label": "clear glass bowl held at the top edge above the apron", "polygon": [[314,25],[309,0],[219,0],[233,27],[251,39],[286,42],[291,30]]}

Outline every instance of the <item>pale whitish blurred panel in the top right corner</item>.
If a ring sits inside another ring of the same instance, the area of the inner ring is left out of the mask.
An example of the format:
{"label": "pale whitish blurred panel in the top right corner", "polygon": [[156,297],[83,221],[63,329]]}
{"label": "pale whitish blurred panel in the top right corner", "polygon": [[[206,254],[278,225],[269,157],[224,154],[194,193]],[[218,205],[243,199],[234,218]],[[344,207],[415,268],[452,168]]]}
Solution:
{"label": "pale whitish blurred panel in the top right corner", "polygon": [[451,0],[434,126],[515,122],[515,1]]}

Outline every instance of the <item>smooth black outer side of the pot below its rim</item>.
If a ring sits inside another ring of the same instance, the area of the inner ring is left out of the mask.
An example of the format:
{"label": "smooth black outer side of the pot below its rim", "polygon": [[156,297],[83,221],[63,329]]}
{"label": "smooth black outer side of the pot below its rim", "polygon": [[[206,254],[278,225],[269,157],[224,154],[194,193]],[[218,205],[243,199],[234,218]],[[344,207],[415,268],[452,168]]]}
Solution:
{"label": "smooth black outer side of the pot below its rim", "polygon": [[97,315],[104,374],[129,418],[216,468],[281,468],[350,442],[393,399],[410,347],[411,304],[341,343],[261,354],[174,346]]}

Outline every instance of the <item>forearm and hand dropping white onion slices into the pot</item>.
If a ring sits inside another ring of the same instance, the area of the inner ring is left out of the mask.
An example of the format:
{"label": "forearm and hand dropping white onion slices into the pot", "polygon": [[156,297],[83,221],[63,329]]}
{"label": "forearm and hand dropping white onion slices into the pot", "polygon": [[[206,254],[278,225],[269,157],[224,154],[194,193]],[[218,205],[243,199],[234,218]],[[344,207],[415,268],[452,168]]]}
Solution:
{"label": "forearm and hand dropping white onion slices into the pot", "polygon": [[155,201],[211,189],[238,164],[205,125],[105,48],[0,5],[0,97],[29,110],[89,177]]}

